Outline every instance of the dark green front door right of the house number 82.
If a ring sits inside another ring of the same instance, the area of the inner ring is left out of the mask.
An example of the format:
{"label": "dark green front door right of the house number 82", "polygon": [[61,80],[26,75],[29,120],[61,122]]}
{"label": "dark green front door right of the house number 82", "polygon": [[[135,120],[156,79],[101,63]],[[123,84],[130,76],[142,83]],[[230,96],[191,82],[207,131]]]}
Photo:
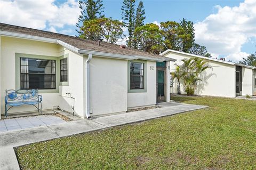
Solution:
{"label": "dark green front door right of the house number 82", "polygon": [[158,102],[164,102],[166,101],[165,97],[165,70],[163,69],[157,69],[157,99]]}

